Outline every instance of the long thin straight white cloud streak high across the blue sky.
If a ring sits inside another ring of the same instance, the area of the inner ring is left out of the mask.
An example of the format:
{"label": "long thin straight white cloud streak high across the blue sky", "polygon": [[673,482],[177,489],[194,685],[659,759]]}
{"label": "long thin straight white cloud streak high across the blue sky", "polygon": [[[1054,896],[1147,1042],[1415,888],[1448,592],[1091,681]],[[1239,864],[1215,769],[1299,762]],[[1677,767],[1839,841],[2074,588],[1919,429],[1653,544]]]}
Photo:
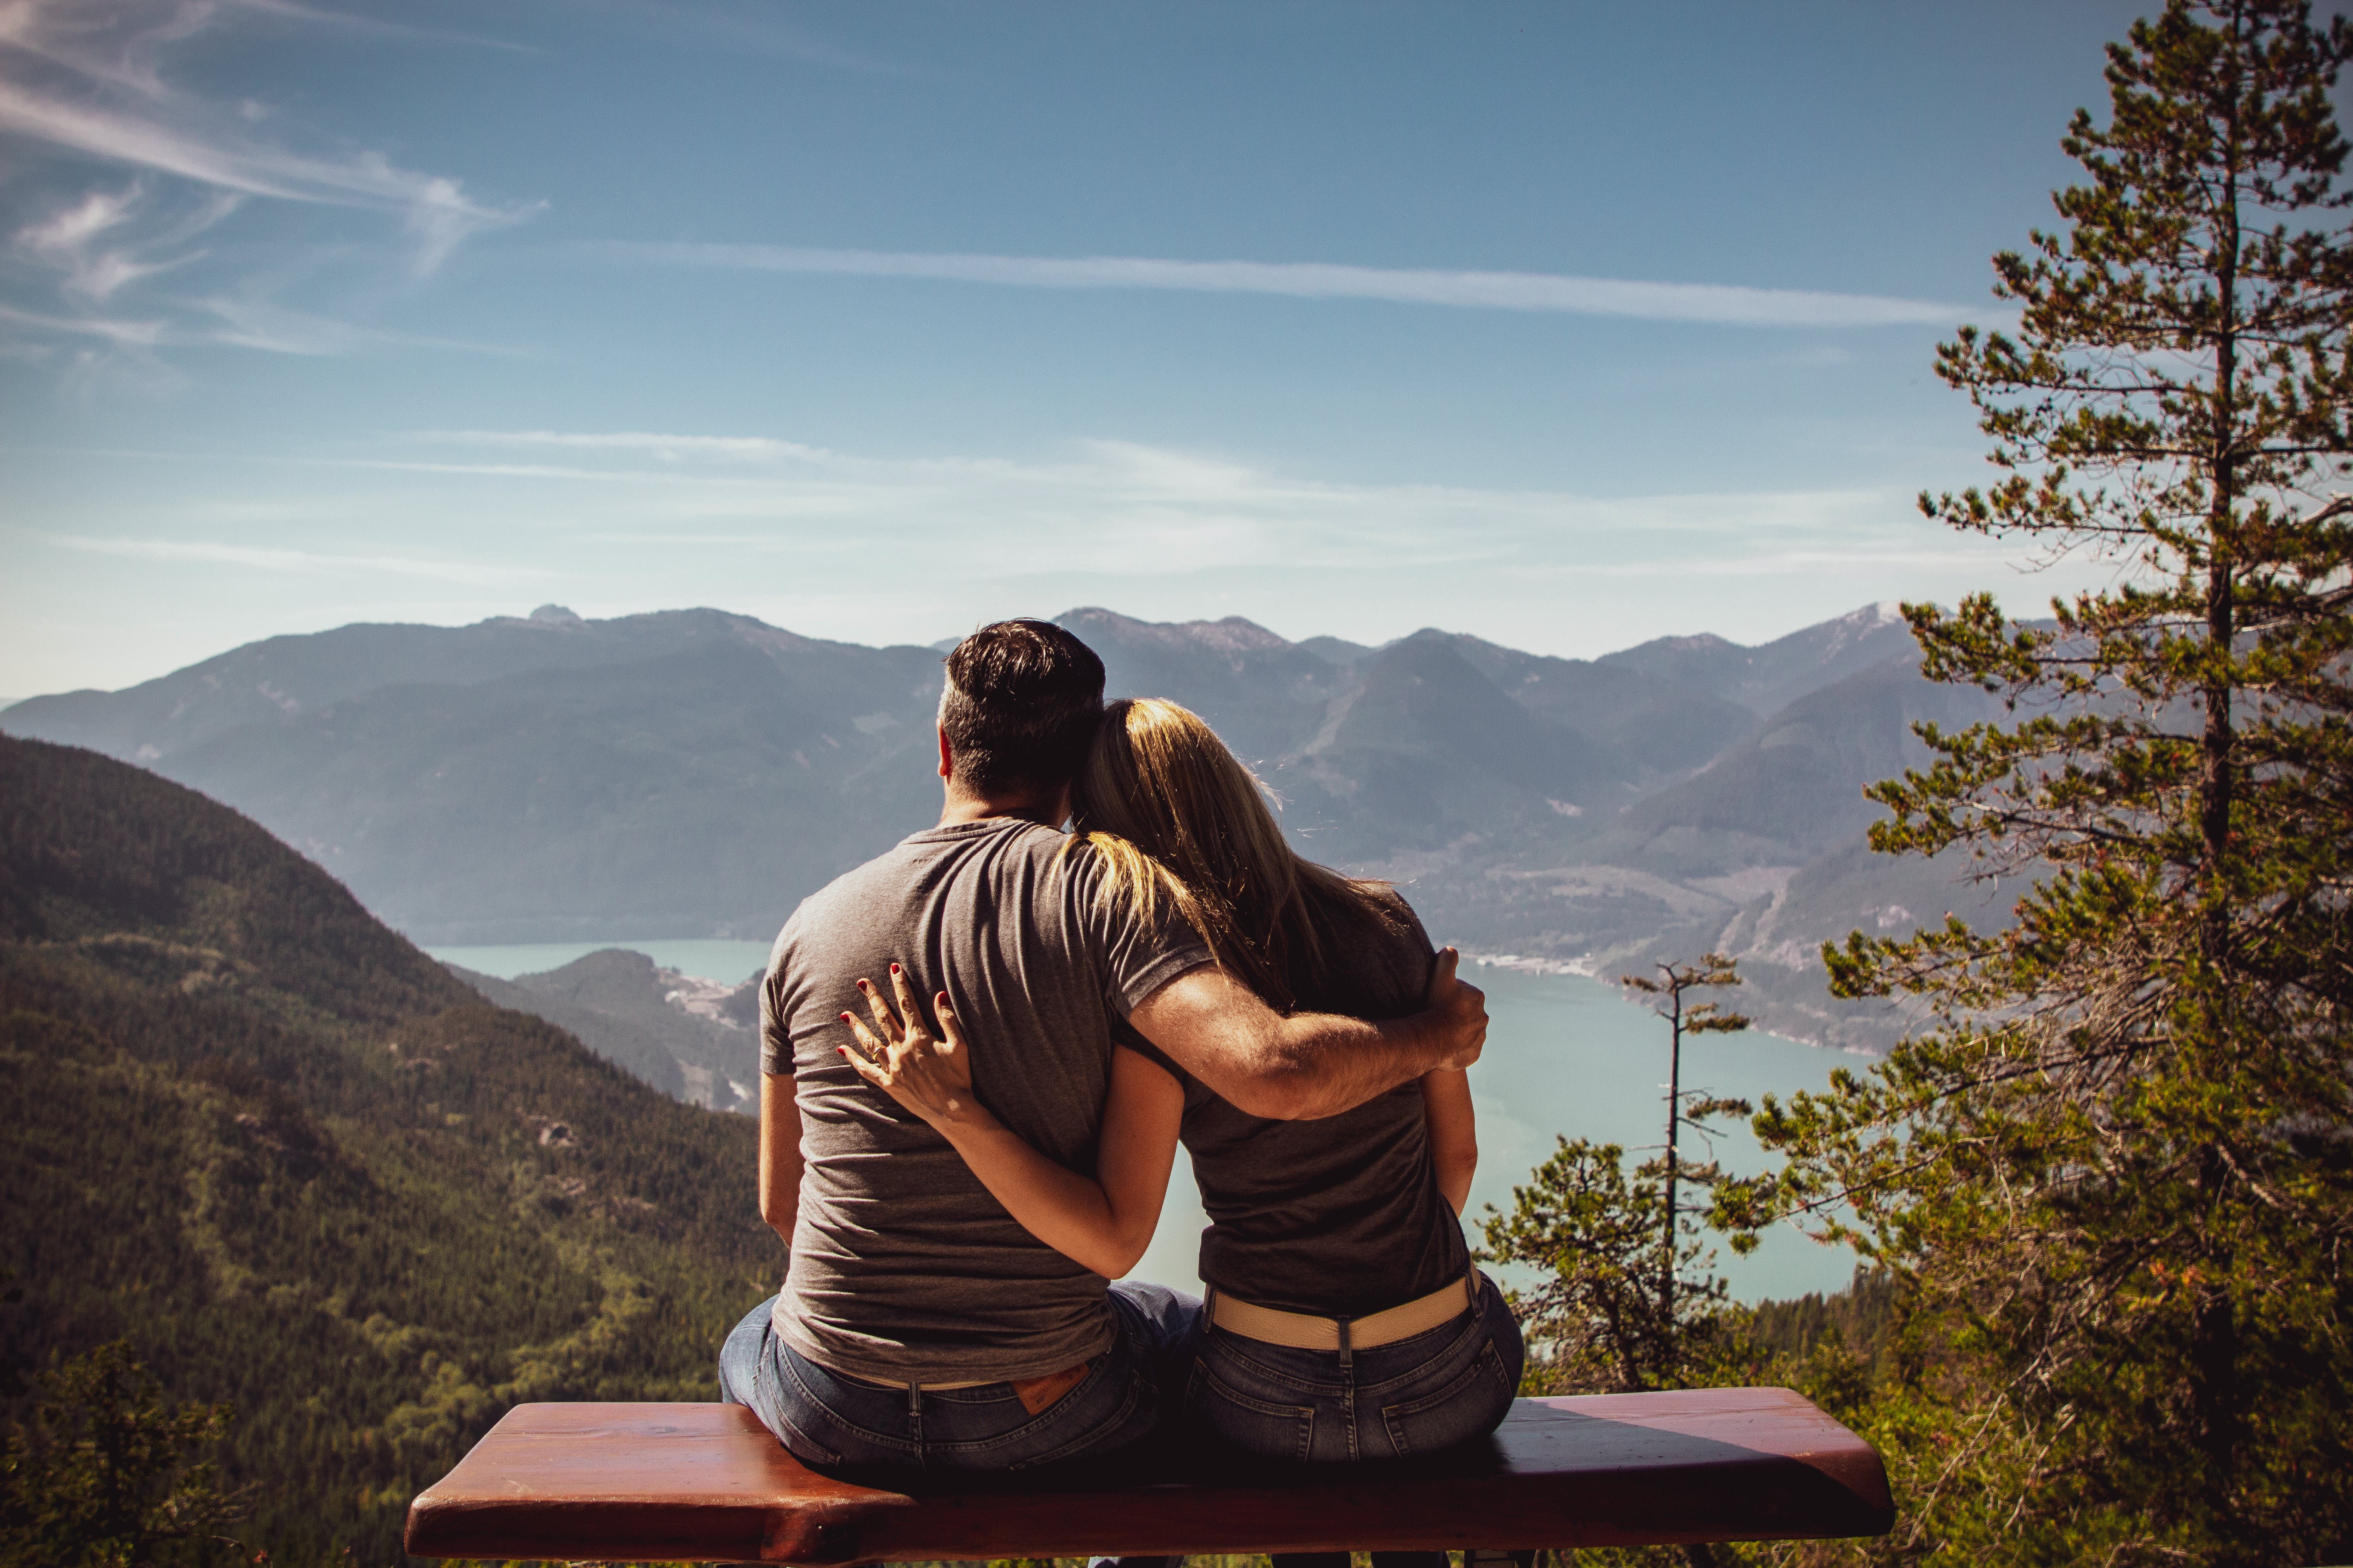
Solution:
{"label": "long thin straight white cloud streak high across the blue sky", "polygon": [[967,256],[927,252],[845,252],[791,244],[600,242],[616,261],[649,261],[748,273],[922,277],[1016,289],[1184,289],[1198,294],[1282,294],[1292,299],[1377,299],[1466,310],[1548,310],[1654,322],[1739,327],[1946,327],[1984,310],[1887,294],[1751,289],[1741,284],[1642,282],[1565,273],[1466,273],[1369,268],[1325,261],[1167,261],[1155,256]]}

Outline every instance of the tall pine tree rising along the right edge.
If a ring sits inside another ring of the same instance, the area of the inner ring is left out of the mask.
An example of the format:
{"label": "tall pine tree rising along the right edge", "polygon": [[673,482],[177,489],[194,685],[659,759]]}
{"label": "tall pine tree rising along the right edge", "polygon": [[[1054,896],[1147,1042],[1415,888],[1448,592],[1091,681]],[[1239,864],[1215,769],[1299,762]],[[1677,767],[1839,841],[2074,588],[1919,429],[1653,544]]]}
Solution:
{"label": "tall pine tree rising along the right edge", "polygon": [[2033,886],[2007,931],[1826,947],[1838,994],[1927,1023],[1758,1117],[1779,1204],[1899,1269],[1915,1380],[1984,1458],[1944,1455],[1915,1547],[2353,1556],[2346,59],[2292,0],[2134,24],[2064,230],[1995,256],[2017,331],[1939,348],[2002,477],[1922,508],[2118,585],[2049,623],[1906,607],[1922,670],[2009,715],[1922,726],[1873,846]]}

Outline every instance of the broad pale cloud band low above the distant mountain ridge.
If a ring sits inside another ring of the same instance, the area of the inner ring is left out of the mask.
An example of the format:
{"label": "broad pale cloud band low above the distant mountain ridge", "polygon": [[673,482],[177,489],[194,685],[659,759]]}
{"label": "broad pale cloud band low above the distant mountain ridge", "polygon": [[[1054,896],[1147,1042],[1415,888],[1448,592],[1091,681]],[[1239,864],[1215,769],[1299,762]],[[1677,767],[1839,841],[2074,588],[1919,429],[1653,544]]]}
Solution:
{"label": "broad pale cloud band low above the distant mountain ridge", "polygon": [[[501,489],[501,515],[560,517],[558,527],[616,545],[668,541],[833,569],[892,541],[922,571],[974,578],[1478,562],[1522,571],[1548,559],[1645,569],[1694,555],[1800,574],[1835,559],[1852,567],[1892,545],[1871,538],[1868,520],[1906,510],[1904,496],[1880,491],[1581,496],[1355,484],[1108,440],[1078,442],[1052,461],[878,458],[781,437],[642,430],[447,430],[409,433],[400,444],[424,451],[325,463],[520,484]],[[445,451],[431,451],[435,444]],[[541,458],[558,451],[565,461]],[[1005,550],[1007,538],[1024,548]],[[1685,543],[1666,548],[1666,538]]]}

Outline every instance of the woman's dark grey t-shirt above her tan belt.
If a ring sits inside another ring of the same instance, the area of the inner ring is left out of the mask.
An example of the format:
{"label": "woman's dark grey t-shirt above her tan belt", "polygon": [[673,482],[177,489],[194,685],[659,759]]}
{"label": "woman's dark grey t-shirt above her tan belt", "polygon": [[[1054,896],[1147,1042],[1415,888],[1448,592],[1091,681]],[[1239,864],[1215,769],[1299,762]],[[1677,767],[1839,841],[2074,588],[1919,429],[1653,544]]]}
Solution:
{"label": "woman's dark grey t-shirt above her tan belt", "polygon": [[[1402,898],[1398,924],[1334,940],[1332,973],[1299,1009],[1405,1018],[1428,990],[1431,938]],[[1134,1030],[1120,1044],[1184,1084],[1184,1147],[1209,1213],[1200,1276],[1226,1295],[1285,1312],[1365,1316],[1459,1281],[1471,1267],[1454,1206],[1438,1190],[1421,1086],[1405,1084],[1339,1117],[1266,1121],[1235,1110]]]}

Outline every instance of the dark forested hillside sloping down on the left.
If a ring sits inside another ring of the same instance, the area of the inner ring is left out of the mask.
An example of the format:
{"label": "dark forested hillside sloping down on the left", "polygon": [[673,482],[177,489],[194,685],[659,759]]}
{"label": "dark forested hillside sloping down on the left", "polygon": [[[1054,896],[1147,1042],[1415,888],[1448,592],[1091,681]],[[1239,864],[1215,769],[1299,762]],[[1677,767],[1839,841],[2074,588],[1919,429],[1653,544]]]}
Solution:
{"label": "dark forested hillside sloping down on the left", "polygon": [[[772,1288],[753,1126],[478,994],[191,790],[0,741],[0,1272],[35,1366],[233,1401],[273,1561],[398,1554],[522,1399],[708,1399]],[[12,1410],[21,1418],[21,1406]]]}

